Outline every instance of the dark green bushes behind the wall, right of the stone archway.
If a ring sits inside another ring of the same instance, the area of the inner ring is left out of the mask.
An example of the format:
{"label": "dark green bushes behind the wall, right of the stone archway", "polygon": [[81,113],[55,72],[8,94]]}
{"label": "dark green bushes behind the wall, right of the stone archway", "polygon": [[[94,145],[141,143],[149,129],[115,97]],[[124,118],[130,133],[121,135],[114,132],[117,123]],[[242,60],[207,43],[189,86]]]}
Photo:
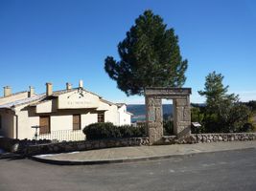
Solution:
{"label": "dark green bushes behind the wall, right of the stone archway", "polygon": [[192,128],[192,133],[242,133],[253,131],[249,121],[251,112],[240,102],[221,101],[210,110],[206,107],[193,107],[191,110],[192,122],[199,122],[200,128]]}

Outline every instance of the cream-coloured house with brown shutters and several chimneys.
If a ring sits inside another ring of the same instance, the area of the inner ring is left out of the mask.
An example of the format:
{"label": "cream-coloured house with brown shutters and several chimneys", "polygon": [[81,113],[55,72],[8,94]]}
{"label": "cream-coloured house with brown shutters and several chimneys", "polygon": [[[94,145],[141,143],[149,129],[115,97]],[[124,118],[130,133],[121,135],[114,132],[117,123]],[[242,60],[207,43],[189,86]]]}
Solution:
{"label": "cream-coloured house with brown shutters and several chimneys", "polygon": [[46,83],[46,92],[40,95],[33,87],[13,95],[10,87],[4,87],[0,97],[0,135],[8,138],[84,139],[81,130],[88,124],[129,125],[130,117],[126,104],[112,103],[85,90],[82,81],[78,88],[67,83],[60,91]]}

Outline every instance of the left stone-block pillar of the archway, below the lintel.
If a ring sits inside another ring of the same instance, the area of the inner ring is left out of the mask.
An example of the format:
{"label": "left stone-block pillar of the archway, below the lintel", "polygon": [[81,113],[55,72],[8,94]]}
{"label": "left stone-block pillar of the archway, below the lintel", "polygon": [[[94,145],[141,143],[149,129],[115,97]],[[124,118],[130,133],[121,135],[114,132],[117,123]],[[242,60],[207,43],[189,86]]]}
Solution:
{"label": "left stone-block pillar of the archway, below the lintel", "polygon": [[146,96],[147,127],[150,144],[161,141],[163,137],[162,100]]}

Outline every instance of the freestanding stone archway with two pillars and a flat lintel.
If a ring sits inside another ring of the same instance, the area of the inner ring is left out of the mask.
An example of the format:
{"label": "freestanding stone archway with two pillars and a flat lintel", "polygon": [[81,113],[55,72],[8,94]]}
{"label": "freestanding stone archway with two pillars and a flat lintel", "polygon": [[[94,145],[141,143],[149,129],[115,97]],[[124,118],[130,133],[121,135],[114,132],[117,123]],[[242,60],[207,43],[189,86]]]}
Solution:
{"label": "freestanding stone archway with two pillars and a flat lintel", "polygon": [[191,134],[191,88],[146,88],[147,127],[150,144],[163,137],[162,98],[173,99],[174,133],[177,138]]}

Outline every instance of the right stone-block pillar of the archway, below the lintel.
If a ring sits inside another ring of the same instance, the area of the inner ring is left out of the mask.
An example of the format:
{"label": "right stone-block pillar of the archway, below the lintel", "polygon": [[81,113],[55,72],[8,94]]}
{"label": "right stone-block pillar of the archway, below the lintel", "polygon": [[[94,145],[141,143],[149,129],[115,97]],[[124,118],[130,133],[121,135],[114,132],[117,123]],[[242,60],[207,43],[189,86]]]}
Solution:
{"label": "right stone-block pillar of the archway, below the lintel", "polygon": [[177,138],[190,136],[191,112],[189,96],[174,99],[174,133]]}

